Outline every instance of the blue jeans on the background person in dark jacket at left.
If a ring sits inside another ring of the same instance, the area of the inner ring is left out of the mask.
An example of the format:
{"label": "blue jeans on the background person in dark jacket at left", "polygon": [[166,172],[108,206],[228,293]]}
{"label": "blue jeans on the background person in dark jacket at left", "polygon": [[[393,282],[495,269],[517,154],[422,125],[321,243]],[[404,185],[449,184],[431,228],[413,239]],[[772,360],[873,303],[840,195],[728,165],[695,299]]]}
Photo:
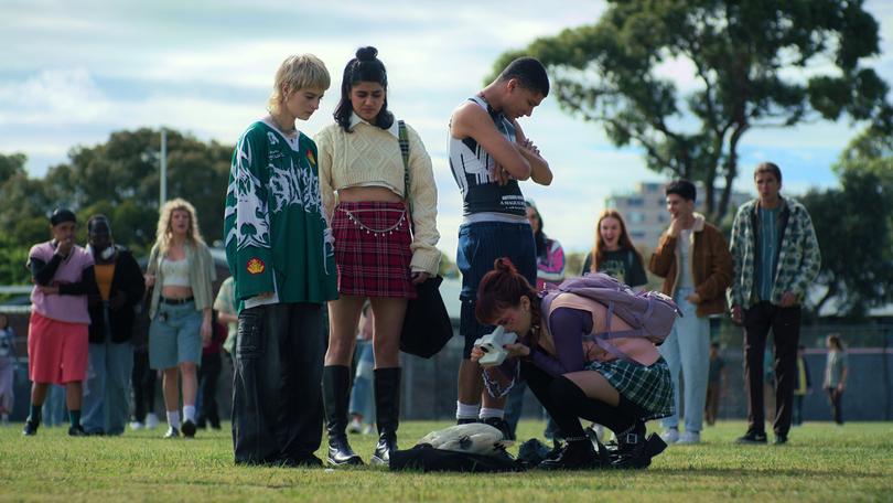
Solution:
{"label": "blue jeans on the background person in dark jacket at left", "polygon": [[88,434],[121,435],[130,415],[133,344],[106,338],[106,342],[89,346],[93,372],[87,376],[80,425]]}

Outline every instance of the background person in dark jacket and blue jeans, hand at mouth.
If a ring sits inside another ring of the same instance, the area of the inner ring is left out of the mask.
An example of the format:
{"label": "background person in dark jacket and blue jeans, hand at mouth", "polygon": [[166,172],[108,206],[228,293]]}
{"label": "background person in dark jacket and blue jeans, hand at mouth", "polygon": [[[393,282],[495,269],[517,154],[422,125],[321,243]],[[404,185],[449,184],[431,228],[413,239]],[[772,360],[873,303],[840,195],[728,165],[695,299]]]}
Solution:
{"label": "background person in dark jacket and blue jeans, hand at mouth", "polygon": [[121,435],[130,411],[133,308],[146,286],[133,255],[112,243],[105,215],[92,216],[87,233],[96,283],[87,298],[89,371],[82,424],[88,435]]}

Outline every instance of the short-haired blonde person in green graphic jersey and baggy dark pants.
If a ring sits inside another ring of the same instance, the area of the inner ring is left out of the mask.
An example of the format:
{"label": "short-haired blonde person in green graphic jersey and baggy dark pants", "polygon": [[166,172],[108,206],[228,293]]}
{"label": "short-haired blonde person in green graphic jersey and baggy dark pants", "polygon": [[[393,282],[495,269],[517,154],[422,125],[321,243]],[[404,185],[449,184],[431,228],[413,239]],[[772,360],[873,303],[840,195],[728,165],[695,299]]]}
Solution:
{"label": "short-haired blonde person in green graphic jersey and baggy dark pants", "polygon": [[248,127],[233,153],[224,235],[238,303],[238,464],[322,464],[313,454],[322,442],[322,309],[337,298],[336,271],[316,145],[294,121],[319,109],[329,85],[316,56],[287,57],[269,115]]}

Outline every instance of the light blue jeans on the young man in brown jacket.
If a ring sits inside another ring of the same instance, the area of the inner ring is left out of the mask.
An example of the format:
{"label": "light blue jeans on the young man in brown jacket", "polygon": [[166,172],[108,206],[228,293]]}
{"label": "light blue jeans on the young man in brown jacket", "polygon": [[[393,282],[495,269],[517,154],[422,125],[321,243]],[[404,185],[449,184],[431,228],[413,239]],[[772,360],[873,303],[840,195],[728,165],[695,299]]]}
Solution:
{"label": "light blue jeans on the young man in brown jacket", "polygon": [[695,290],[679,288],[674,300],[682,318],[677,318],[673,331],[658,347],[667,361],[673,377],[676,413],[663,420],[664,428],[679,427],[679,371],[685,379],[686,431],[697,434],[703,426],[703,404],[707,400],[707,378],[710,373],[710,320],[698,318],[698,307],[686,300]]}

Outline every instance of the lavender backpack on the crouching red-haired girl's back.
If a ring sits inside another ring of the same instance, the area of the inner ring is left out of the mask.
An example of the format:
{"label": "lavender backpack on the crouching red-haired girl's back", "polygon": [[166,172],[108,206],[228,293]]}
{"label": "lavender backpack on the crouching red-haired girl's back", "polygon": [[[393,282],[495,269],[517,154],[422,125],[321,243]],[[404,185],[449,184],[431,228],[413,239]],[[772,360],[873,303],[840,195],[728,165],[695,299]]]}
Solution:
{"label": "lavender backpack on the crouching red-haired girl's back", "polygon": [[585,338],[614,356],[624,360],[631,358],[609,343],[611,339],[645,338],[655,345],[660,345],[673,330],[676,317],[682,315],[676,307],[676,302],[664,293],[658,291],[636,293],[604,272],[590,272],[582,277],[568,278],[557,287],[547,288],[540,292],[542,312],[549,312],[552,300],[561,293],[574,293],[606,307],[605,327],[611,327],[611,319],[617,315],[632,328],[617,332],[593,333]]}

